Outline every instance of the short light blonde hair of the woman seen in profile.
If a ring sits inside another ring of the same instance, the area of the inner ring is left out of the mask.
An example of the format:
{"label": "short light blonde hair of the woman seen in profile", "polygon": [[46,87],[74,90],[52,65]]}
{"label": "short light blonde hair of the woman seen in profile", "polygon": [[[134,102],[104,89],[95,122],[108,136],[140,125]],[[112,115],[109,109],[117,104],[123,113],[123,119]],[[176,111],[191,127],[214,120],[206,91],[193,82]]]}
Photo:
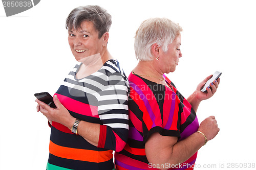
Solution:
{"label": "short light blonde hair of the woman seen in profile", "polygon": [[167,18],[150,18],[143,21],[135,35],[135,55],[140,61],[154,59],[151,46],[157,43],[164,52],[168,50],[168,44],[172,43],[182,28]]}

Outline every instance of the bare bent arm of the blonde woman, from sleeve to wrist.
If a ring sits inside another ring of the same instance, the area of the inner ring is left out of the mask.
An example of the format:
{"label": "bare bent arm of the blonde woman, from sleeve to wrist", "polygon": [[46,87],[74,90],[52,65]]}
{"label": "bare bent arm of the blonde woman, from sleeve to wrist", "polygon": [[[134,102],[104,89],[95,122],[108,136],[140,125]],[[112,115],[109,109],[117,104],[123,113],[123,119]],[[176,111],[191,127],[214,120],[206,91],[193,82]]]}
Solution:
{"label": "bare bent arm of the blonde woman, from sleeve to wrist", "polygon": [[204,142],[204,136],[198,132],[178,142],[177,137],[154,133],[145,143],[145,153],[152,164],[176,165],[193,156]]}

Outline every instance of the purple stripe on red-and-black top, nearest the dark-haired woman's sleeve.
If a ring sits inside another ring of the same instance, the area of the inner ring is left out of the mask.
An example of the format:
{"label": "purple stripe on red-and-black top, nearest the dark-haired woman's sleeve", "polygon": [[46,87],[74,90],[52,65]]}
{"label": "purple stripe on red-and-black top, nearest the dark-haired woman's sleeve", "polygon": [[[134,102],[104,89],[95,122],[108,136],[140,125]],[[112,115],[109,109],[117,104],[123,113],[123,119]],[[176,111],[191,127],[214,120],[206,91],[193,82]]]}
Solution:
{"label": "purple stripe on red-and-black top, nearest the dark-haired woman's sleeve", "polygon": [[144,102],[146,110],[147,110],[148,114],[150,115],[150,118],[153,122],[152,128],[155,127],[156,126],[156,124],[155,124],[156,116],[153,113],[150,103],[148,103],[145,94],[141,91],[141,89],[135,83],[133,83],[131,81],[129,81],[129,83],[130,83],[130,87],[133,87],[133,89],[139,94],[140,99]]}

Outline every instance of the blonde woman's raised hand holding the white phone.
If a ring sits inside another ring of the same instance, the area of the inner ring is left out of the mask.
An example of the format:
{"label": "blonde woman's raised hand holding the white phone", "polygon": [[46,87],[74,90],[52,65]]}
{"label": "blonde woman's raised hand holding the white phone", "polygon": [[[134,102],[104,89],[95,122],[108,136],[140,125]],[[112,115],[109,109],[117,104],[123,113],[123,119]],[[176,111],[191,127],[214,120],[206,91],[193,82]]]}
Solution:
{"label": "blonde woman's raised hand holding the white phone", "polygon": [[206,99],[211,98],[212,95],[215,94],[215,92],[217,91],[217,88],[219,87],[220,84],[220,78],[218,78],[217,80],[215,80],[214,82],[212,82],[210,84],[210,88],[207,88],[207,92],[202,92],[201,91],[201,87],[207,82],[207,80],[209,80],[211,78],[212,75],[208,76],[207,78],[205,78],[201,83],[199,83],[199,85],[197,86],[196,89],[196,98],[199,101],[203,101]]}

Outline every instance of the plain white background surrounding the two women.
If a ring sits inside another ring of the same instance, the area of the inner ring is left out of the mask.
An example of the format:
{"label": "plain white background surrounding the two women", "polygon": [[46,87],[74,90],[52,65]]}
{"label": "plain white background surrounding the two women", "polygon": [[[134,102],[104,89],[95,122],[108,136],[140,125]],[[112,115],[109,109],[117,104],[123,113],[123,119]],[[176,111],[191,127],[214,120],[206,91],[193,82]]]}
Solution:
{"label": "plain white background surrounding the two women", "polygon": [[53,95],[76,64],[65,21],[84,5],[100,5],[112,15],[108,48],[127,76],[137,64],[133,45],[140,23],[150,17],[178,22],[183,57],[167,77],[185,98],[205,77],[222,72],[217,93],[197,112],[200,122],[215,115],[220,132],[199,150],[195,169],[256,163],[254,1],[41,0],[11,17],[0,7],[0,169],[46,169],[50,128],[36,112],[34,93]]}

